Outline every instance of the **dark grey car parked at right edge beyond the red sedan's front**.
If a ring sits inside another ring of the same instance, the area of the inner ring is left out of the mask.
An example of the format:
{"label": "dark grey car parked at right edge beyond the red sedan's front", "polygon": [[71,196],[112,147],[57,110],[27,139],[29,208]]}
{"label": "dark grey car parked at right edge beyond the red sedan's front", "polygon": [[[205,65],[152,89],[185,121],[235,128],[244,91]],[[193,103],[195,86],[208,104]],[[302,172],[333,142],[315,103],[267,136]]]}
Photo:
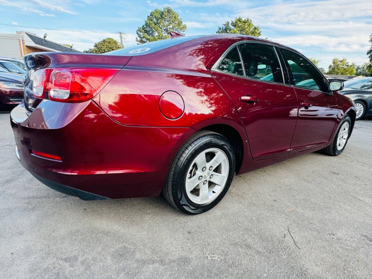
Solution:
{"label": "dark grey car parked at right edge beyond the red sedan's front", "polygon": [[372,77],[344,81],[344,89],[340,93],[355,102],[356,120],[372,116]]}

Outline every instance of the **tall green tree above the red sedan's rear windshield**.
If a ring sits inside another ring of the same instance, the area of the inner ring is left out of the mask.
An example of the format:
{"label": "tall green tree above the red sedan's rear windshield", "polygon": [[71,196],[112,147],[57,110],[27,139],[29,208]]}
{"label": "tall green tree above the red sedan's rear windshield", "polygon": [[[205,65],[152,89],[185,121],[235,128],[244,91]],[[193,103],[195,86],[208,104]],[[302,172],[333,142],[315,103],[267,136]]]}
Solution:
{"label": "tall green tree above the red sedan's rear windshield", "polygon": [[136,41],[138,44],[170,38],[169,32],[184,34],[187,27],[171,7],[155,9],[147,16],[145,24],[138,27]]}

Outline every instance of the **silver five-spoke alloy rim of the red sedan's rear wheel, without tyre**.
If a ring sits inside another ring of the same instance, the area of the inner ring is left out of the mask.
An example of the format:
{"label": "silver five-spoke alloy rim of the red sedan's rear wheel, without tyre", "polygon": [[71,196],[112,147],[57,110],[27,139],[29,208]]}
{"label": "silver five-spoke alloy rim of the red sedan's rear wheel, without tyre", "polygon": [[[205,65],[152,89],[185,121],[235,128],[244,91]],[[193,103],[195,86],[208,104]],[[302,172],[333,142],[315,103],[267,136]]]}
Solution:
{"label": "silver five-spoke alloy rim of the red sedan's rear wheel, without tyre", "polygon": [[224,189],[229,160],[219,148],[203,150],[190,164],[186,176],[186,193],[193,203],[213,201]]}

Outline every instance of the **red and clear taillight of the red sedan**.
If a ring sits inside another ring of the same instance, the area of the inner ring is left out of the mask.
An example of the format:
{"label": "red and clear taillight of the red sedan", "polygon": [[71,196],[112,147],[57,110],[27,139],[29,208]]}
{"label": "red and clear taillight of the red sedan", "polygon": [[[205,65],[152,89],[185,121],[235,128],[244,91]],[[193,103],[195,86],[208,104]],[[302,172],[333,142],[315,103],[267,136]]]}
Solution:
{"label": "red and clear taillight of the red sedan", "polygon": [[[40,73],[38,73],[39,71]],[[84,102],[96,96],[117,71],[117,69],[99,68],[37,70],[34,76],[37,94],[34,95],[35,97],[43,98],[45,91],[48,91],[49,99],[53,101]],[[43,75],[45,77],[45,86],[41,90],[42,82],[39,80],[42,80]]]}

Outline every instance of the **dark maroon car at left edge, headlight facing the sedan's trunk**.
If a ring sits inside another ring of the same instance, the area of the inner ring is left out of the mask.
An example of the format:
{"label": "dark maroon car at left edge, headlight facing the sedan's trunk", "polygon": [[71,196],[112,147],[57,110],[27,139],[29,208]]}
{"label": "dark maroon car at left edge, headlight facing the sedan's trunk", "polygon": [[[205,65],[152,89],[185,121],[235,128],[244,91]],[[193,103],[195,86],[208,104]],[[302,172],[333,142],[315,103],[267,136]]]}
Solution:
{"label": "dark maroon car at left edge, headlight facing the sedan's trunk", "polygon": [[19,104],[23,100],[22,79],[0,68],[0,106]]}

